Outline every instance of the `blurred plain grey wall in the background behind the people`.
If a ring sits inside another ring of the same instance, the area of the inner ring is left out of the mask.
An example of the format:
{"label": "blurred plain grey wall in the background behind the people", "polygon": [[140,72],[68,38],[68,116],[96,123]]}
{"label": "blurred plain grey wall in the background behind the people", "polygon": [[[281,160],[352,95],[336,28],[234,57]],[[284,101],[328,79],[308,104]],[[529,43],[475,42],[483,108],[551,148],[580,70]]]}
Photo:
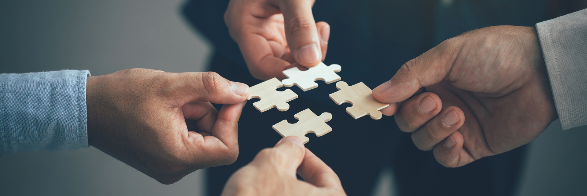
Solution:
{"label": "blurred plain grey wall in the background behind the people", "polygon": [[[103,75],[133,67],[203,71],[211,47],[184,23],[181,4],[1,1],[0,73],[70,68]],[[585,127],[562,131],[558,121],[552,123],[532,142],[518,195],[586,195],[585,139]],[[0,195],[203,195],[204,172],[163,185],[94,147],[5,154],[0,157]],[[375,195],[397,195],[392,175],[382,171]]]}

